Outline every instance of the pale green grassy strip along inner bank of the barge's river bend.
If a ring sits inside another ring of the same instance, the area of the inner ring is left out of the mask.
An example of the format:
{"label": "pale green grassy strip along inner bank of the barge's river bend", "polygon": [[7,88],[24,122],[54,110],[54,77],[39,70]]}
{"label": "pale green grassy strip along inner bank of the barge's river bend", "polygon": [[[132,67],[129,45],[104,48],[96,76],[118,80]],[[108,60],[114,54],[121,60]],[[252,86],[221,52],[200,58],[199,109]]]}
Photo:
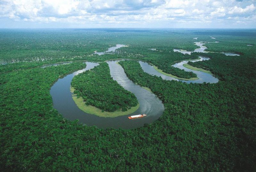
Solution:
{"label": "pale green grassy strip along inner bank of the barge's river bend", "polygon": [[75,89],[70,87],[70,92],[72,93],[72,98],[74,102],[76,103],[76,106],[84,111],[85,113],[93,114],[99,117],[105,117],[105,118],[115,118],[117,116],[124,116],[124,115],[129,115],[131,113],[134,113],[137,109],[139,109],[140,104],[138,103],[137,106],[131,107],[131,109],[128,109],[127,111],[123,112],[121,110],[115,111],[115,112],[105,112],[100,110],[97,107],[94,106],[88,106],[85,105],[84,100],[82,97],[77,98],[76,94],[74,94]]}

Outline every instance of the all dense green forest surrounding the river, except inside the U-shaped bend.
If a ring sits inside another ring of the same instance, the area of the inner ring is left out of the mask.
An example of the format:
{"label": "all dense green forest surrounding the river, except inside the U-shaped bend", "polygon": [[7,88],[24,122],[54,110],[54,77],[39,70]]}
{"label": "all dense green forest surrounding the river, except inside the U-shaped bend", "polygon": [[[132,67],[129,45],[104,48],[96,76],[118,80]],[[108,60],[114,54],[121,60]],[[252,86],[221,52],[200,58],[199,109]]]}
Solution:
{"label": "all dense green forest surrounding the river, except inside the U-shaped bend", "polygon": [[[1,62],[28,61],[0,66],[1,171],[255,171],[256,46],[241,48],[236,41],[256,45],[256,39],[233,32],[1,30]],[[210,42],[210,36],[221,44],[206,44],[209,51],[232,50],[241,56],[172,52],[194,50],[193,37]],[[91,56],[117,43],[130,46]],[[159,120],[130,130],[64,119],[53,108],[49,90],[61,75],[84,64],[39,67],[130,58],[169,70],[175,61],[197,55],[211,60],[189,64],[211,71],[218,83],[165,81],[144,73],[136,61],[120,62],[127,76],[149,88],[165,107]]]}

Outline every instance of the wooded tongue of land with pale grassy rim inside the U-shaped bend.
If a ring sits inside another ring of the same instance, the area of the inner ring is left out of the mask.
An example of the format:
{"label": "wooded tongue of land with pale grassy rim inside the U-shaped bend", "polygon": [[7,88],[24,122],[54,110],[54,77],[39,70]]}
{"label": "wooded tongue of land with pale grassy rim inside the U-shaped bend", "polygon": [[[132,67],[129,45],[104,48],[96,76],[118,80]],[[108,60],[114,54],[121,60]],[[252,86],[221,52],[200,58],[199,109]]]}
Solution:
{"label": "wooded tongue of land with pale grassy rim inside the U-shaped bend", "polygon": [[79,109],[100,117],[128,115],[139,108],[135,95],[112,79],[106,62],[76,75],[70,91]]}

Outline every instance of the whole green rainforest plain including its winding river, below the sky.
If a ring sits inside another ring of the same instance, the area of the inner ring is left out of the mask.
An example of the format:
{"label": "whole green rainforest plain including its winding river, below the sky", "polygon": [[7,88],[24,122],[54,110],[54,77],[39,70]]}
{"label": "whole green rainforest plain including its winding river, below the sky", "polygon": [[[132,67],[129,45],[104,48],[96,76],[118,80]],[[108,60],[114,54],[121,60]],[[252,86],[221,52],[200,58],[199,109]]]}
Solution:
{"label": "whole green rainforest plain including its winding river, below the sky", "polygon": [[0,91],[1,171],[256,169],[255,29],[0,29]]}

